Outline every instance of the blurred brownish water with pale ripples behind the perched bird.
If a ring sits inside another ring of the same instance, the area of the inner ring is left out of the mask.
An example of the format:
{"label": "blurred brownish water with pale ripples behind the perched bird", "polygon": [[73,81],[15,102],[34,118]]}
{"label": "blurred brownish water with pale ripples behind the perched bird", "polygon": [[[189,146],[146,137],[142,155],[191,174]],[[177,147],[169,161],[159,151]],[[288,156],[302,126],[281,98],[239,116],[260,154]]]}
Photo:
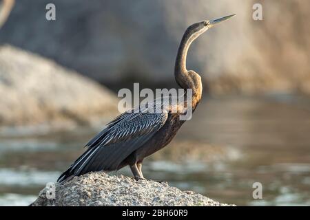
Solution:
{"label": "blurred brownish water with pale ripples behind the perched bird", "polygon": [[[0,131],[0,205],[24,206],[99,130]],[[143,173],[223,203],[309,206],[309,131],[309,98],[207,98],[176,139],[145,160]],[[127,168],[118,173],[131,175]],[[263,199],[253,199],[254,182]]]}

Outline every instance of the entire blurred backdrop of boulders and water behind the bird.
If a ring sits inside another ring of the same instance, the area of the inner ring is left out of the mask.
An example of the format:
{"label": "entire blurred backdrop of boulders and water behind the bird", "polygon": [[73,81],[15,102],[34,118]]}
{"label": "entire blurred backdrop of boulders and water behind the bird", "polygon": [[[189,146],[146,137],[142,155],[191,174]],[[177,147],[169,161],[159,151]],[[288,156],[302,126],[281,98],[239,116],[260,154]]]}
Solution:
{"label": "entire blurred backdrop of boulders and water behind the bird", "polygon": [[119,89],[176,87],[187,26],[237,14],[192,44],[203,100],[143,173],[222,203],[309,206],[309,10],[303,0],[1,1],[0,205],[28,205],[56,181],[118,114]]}

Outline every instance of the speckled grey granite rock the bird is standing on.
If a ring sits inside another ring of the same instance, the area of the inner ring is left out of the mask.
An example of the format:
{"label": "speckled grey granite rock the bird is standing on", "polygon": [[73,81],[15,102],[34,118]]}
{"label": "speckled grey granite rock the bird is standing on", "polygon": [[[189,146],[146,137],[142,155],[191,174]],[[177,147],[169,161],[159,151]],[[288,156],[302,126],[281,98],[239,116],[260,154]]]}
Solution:
{"label": "speckled grey granite rock the bird is standing on", "polygon": [[166,182],[134,180],[104,172],[74,177],[56,184],[55,199],[43,188],[31,206],[230,206],[192,191],[181,191]]}

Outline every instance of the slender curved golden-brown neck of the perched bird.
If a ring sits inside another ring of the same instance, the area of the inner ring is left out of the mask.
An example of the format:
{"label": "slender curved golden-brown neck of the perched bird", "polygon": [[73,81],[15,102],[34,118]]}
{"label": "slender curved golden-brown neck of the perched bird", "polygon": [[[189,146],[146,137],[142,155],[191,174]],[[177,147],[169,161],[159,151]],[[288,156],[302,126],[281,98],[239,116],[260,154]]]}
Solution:
{"label": "slender curved golden-brown neck of the perched bird", "polygon": [[192,107],[196,105],[201,99],[203,86],[200,76],[195,72],[190,73],[186,69],[187,51],[191,43],[198,37],[199,34],[189,34],[188,30],[183,35],[183,38],[178,47],[178,54],[176,55],[176,64],[174,67],[174,78],[176,83],[183,89],[192,89]]}

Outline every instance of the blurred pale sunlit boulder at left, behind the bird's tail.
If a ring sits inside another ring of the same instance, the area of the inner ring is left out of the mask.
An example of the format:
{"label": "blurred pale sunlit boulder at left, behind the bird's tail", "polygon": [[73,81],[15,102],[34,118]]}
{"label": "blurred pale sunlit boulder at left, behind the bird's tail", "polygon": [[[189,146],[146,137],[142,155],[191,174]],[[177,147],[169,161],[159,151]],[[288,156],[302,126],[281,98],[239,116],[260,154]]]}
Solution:
{"label": "blurred pale sunlit boulder at left, behind the bird's tail", "polygon": [[1,126],[88,124],[117,104],[93,80],[10,45],[0,47],[0,94]]}

